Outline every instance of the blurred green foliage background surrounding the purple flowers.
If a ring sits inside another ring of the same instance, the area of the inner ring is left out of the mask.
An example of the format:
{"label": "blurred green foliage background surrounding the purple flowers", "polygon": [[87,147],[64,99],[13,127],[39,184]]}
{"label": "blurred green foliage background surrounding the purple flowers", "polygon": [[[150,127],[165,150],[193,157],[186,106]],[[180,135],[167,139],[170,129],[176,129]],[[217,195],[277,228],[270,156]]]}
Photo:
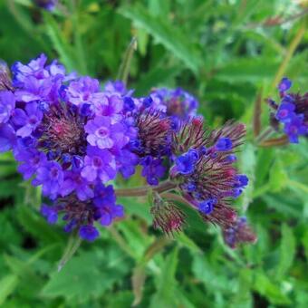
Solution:
{"label": "blurred green foliage background surrounding the purple flowers", "polygon": [[[57,273],[68,236],[38,213],[41,196],[0,157],[1,307],[307,307],[308,142],[257,148],[252,122],[276,98],[284,75],[308,81],[306,1],[66,0],[52,13],[30,0],[0,1],[0,57],[10,65],[39,53],[69,71],[115,79],[133,35],[131,88],[181,86],[207,124],[247,124],[238,168],[250,178],[236,201],[258,236],[231,250],[220,231],[190,215],[169,239],[151,227],[149,204],[122,199],[127,219],[101,228]],[[132,180],[128,185],[138,184]],[[249,208],[248,208],[249,207]],[[247,210],[248,209],[248,210]],[[247,211],[246,211],[247,210]]]}

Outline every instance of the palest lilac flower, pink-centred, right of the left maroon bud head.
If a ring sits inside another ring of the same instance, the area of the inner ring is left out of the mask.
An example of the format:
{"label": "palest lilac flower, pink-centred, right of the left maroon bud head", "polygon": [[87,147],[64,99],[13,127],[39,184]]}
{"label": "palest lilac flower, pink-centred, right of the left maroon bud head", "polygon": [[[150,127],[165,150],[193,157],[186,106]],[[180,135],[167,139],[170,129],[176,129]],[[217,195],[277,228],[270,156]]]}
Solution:
{"label": "palest lilac flower, pink-centred, right of the left maroon bud head", "polygon": [[113,146],[122,148],[129,142],[129,138],[123,134],[123,125],[111,125],[111,119],[108,117],[96,117],[90,120],[84,129],[88,133],[87,140],[91,146],[100,149],[111,149]]}

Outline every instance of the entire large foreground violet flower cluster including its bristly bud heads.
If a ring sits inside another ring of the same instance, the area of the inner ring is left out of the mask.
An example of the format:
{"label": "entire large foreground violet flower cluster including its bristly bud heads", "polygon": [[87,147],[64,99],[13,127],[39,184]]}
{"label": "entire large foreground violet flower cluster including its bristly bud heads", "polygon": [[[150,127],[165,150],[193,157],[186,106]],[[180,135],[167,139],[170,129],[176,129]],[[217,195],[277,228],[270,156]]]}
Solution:
{"label": "entire large foreground violet flower cluster including its bristly bud heads", "polygon": [[11,71],[12,81],[0,65],[0,151],[12,150],[24,180],[42,187],[41,213],[50,224],[61,218],[66,232],[93,241],[98,225],[124,217],[112,183],[140,166],[156,191],[153,226],[169,234],[185,224],[182,209],[159,195],[168,190],[206,221],[236,226],[230,203],[248,184],[234,166],[243,124],[204,130],[187,91],[155,89],[137,98],[123,82],[101,88],[43,54]]}

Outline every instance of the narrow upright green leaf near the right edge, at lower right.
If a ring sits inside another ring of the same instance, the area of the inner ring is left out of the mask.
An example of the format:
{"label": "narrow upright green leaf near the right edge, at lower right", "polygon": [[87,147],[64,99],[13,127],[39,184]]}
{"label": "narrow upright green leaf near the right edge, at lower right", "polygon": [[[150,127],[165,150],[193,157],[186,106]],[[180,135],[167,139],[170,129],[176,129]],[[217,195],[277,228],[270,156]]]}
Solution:
{"label": "narrow upright green leaf near the right edge, at lower right", "polygon": [[279,262],[275,270],[275,276],[281,280],[293,265],[296,240],[290,226],[282,226],[282,240],[280,244]]}

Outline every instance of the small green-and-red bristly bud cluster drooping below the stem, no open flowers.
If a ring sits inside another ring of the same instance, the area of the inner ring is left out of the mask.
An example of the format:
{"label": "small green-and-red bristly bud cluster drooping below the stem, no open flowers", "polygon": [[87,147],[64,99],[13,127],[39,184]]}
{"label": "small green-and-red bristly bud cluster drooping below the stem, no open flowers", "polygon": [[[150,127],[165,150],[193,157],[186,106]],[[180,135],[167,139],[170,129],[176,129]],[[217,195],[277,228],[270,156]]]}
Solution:
{"label": "small green-and-red bristly bud cluster drooping below the stem, no open flowers", "polygon": [[179,207],[172,202],[162,200],[158,195],[154,197],[153,203],[150,213],[154,228],[160,229],[168,236],[182,230],[186,216]]}

